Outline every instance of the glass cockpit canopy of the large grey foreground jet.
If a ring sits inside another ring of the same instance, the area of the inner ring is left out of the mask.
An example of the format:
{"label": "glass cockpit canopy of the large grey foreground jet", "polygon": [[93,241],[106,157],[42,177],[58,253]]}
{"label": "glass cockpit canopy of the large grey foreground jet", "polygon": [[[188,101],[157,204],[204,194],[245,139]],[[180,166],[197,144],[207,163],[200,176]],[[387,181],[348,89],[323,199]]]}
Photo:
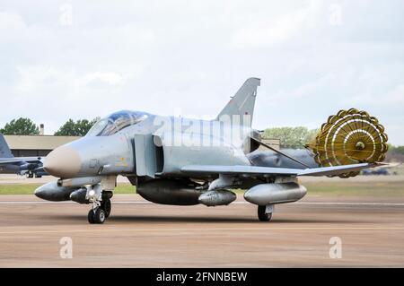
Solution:
{"label": "glass cockpit canopy of the large grey foreground jet", "polygon": [[99,120],[86,136],[110,136],[127,126],[134,126],[148,117],[147,113],[121,110]]}

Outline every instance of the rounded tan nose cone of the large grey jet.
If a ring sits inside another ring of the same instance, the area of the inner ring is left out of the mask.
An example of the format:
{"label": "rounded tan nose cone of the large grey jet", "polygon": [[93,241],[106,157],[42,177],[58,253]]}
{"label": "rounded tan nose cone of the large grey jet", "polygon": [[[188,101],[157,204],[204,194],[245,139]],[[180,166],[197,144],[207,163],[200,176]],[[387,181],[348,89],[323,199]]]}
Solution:
{"label": "rounded tan nose cone of the large grey jet", "polygon": [[48,174],[58,178],[74,178],[82,167],[82,160],[75,149],[62,146],[50,152],[43,168]]}

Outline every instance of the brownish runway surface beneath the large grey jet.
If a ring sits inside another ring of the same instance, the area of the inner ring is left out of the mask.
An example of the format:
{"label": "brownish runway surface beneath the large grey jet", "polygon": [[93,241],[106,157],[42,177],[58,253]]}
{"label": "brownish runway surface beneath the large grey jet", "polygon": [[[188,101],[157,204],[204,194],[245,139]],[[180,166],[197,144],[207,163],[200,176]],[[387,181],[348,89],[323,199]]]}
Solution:
{"label": "brownish runway surface beneath the large grey jet", "polygon": [[[116,195],[110,219],[88,205],[0,196],[0,267],[404,266],[404,198],[306,196],[271,222],[242,198],[223,207],[168,206]],[[60,257],[60,239],[73,258]],[[329,239],[342,258],[330,258]]]}

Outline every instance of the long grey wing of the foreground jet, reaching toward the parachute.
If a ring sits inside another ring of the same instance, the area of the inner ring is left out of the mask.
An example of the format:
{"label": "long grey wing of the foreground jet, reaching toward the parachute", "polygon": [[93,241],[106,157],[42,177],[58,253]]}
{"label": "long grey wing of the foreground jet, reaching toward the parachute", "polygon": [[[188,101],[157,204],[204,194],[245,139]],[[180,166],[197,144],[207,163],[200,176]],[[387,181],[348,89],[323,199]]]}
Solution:
{"label": "long grey wing of the foreground jet, reaching toward the parachute", "polygon": [[223,175],[250,175],[250,176],[331,176],[358,171],[361,169],[380,166],[382,163],[360,163],[334,167],[321,167],[312,169],[286,169],[259,166],[206,166],[190,165],[181,168],[183,173],[189,174],[223,174]]}

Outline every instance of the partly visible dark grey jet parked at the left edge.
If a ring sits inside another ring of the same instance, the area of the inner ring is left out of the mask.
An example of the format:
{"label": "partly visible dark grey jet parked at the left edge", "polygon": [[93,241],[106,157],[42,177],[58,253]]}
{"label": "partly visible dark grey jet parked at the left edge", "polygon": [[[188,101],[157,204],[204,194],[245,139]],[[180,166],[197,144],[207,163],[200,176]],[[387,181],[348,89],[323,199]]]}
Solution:
{"label": "partly visible dark grey jet parked at the left edge", "polygon": [[41,157],[14,157],[4,135],[0,134],[0,174],[18,174],[28,178],[48,175],[42,168]]}

